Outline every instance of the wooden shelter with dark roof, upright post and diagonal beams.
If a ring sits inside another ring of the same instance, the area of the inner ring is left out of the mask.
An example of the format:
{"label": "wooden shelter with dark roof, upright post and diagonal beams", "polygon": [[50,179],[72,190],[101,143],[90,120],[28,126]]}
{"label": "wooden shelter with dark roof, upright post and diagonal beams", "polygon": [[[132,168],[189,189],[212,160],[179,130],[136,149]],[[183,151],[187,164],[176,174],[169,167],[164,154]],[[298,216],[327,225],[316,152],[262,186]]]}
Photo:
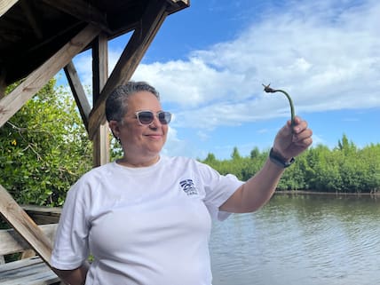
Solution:
{"label": "wooden shelter with dark roof, upright post and diagonal beams", "polygon": [[[108,162],[107,95],[131,79],[162,22],[188,7],[189,1],[0,0],[0,127],[63,68],[93,142],[93,164]],[[108,75],[108,41],[130,32]],[[92,51],[92,107],[72,61],[85,50]],[[5,96],[5,88],[21,79]],[[1,185],[0,213],[49,265],[51,241]]]}

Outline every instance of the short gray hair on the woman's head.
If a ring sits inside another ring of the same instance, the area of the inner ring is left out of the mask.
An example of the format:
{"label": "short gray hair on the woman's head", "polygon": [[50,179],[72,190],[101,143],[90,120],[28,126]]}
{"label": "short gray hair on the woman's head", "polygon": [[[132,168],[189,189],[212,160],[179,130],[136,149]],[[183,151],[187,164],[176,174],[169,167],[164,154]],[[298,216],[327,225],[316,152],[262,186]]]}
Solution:
{"label": "short gray hair on the woman's head", "polygon": [[107,121],[121,122],[123,116],[127,113],[128,99],[132,94],[139,91],[148,91],[160,100],[160,93],[155,88],[146,82],[130,81],[125,85],[120,85],[109,94],[106,100],[106,117]]}

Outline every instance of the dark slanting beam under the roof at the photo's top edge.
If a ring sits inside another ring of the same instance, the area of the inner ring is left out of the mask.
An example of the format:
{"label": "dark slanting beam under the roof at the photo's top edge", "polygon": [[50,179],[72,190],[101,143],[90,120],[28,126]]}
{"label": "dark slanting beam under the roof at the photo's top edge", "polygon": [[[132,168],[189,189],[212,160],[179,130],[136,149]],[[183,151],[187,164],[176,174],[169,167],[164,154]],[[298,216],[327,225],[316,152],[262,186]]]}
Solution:
{"label": "dark slanting beam under the roof at the photo's top edge", "polygon": [[84,20],[89,24],[99,27],[109,34],[112,33],[108,27],[107,14],[92,6],[89,1],[43,0],[43,2],[51,5],[51,7],[59,9],[62,12],[70,14],[78,20]]}

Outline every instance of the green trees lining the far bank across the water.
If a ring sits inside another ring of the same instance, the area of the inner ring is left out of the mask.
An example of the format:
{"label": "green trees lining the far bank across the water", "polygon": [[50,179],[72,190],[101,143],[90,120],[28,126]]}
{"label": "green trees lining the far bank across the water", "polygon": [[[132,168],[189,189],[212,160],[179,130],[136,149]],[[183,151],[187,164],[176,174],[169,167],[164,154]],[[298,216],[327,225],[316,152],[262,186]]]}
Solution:
{"label": "green trees lining the far bank across the water", "polygon": [[[202,161],[222,174],[232,173],[248,180],[264,165],[268,151],[253,148],[249,157],[242,157],[234,147],[231,160],[219,161],[209,154]],[[345,135],[337,146],[314,146],[297,157],[287,169],[278,190],[307,190],[332,193],[374,193],[380,191],[380,145],[359,149]]]}

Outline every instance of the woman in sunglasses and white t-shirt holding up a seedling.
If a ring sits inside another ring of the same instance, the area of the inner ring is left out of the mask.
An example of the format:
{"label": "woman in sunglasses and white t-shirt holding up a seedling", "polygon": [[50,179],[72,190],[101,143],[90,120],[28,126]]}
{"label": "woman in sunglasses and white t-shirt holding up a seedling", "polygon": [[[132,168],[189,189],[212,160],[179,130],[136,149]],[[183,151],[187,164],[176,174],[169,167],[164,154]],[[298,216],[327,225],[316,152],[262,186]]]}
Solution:
{"label": "woman in sunglasses and white t-shirt holding up a seedling", "polygon": [[312,131],[296,117],[244,183],[193,159],[162,156],[171,115],[159,99],[141,82],[107,99],[123,158],[84,174],[67,194],[51,256],[67,284],[210,285],[211,218],[260,208],[292,157],[312,144]]}

